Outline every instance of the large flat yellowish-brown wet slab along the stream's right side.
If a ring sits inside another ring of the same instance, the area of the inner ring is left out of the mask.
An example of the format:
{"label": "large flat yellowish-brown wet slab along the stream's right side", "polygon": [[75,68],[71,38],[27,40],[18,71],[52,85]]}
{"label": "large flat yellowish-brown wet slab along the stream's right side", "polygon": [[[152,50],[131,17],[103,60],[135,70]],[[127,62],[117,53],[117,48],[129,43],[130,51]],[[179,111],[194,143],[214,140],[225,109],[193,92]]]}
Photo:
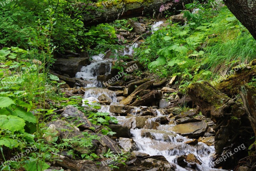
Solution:
{"label": "large flat yellowish-brown wet slab along the stream's right side", "polygon": [[188,136],[189,138],[203,136],[206,129],[207,123],[204,121],[179,124],[169,128],[169,130],[174,131],[176,134]]}

